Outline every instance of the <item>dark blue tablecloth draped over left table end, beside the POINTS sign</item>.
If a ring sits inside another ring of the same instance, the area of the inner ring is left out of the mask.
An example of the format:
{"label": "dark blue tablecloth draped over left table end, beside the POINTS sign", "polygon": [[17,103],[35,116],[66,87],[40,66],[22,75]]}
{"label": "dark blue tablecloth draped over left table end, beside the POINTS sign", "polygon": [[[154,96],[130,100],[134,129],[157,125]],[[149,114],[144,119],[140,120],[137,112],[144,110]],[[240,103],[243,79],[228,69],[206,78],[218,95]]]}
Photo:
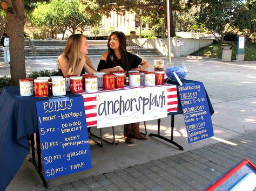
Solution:
{"label": "dark blue tablecloth draped over left table end, beside the POINTS sign", "polygon": [[[80,96],[69,94],[67,96]],[[0,190],[14,178],[29,153],[28,135],[38,132],[36,102],[52,97],[20,96],[19,87],[0,94]],[[56,96],[55,96],[56,98]]]}

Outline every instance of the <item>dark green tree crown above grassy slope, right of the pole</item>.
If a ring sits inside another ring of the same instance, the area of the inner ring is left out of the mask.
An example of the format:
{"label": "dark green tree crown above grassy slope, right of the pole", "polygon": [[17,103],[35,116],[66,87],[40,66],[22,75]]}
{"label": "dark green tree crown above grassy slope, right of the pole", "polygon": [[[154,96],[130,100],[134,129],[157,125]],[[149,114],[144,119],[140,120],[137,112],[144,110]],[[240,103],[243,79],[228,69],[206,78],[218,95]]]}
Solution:
{"label": "dark green tree crown above grassy slope, right of the pole", "polygon": [[223,42],[225,33],[233,26],[239,2],[239,0],[201,0],[197,21],[199,24],[203,23],[212,34],[220,34],[220,41]]}

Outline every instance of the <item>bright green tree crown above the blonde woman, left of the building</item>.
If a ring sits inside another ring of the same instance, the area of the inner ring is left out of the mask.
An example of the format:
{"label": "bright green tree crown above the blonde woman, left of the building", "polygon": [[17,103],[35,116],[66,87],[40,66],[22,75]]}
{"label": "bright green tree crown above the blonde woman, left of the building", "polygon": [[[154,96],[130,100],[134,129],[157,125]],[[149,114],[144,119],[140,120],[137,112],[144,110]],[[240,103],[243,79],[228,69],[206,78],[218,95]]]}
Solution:
{"label": "bright green tree crown above the blonde woman, left of the building", "polygon": [[63,34],[66,30],[75,34],[80,27],[80,32],[83,32],[85,26],[92,24],[92,20],[80,12],[79,6],[77,0],[51,0],[50,3],[39,3],[32,12],[31,22],[39,29],[49,31],[52,38],[56,38],[59,29]]}

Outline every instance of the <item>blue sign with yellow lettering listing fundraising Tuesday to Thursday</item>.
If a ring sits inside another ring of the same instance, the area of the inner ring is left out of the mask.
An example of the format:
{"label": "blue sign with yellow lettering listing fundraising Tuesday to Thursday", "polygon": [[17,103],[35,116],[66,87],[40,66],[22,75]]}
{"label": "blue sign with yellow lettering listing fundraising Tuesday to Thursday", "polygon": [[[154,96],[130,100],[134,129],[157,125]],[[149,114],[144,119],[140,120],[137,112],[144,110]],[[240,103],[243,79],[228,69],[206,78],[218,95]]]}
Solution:
{"label": "blue sign with yellow lettering listing fundraising Tuesday to Thursday", "polygon": [[188,143],[212,137],[212,119],[203,83],[186,83],[178,91]]}

